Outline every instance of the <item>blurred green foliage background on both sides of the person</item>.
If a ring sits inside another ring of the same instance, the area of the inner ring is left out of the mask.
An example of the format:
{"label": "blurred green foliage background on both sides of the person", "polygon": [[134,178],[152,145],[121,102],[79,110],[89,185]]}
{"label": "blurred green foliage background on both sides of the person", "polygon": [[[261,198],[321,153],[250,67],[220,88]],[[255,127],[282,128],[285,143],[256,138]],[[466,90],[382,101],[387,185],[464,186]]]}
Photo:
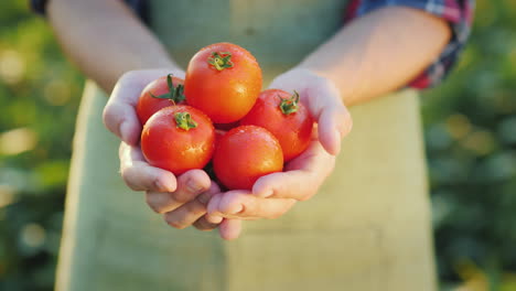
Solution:
{"label": "blurred green foliage background on both sides of the person", "polygon": [[[52,290],[84,79],[26,0],[0,4],[0,290]],[[442,290],[516,290],[516,1],[422,96]],[[415,262],[417,263],[417,262]]]}

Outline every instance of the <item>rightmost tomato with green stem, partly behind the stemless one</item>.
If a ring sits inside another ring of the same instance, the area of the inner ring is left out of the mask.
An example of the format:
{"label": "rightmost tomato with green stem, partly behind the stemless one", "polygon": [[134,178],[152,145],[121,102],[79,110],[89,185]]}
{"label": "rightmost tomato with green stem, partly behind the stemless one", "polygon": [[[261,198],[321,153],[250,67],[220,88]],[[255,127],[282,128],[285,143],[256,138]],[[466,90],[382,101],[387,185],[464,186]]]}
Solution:
{"label": "rightmost tomato with green stem, partly behind the stemless one", "polygon": [[260,94],[252,109],[240,125],[255,125],[269,130],[281,144],[284,161],[301,154],[310,144],[313,119],[299,103],[299,95],[268,89]]}

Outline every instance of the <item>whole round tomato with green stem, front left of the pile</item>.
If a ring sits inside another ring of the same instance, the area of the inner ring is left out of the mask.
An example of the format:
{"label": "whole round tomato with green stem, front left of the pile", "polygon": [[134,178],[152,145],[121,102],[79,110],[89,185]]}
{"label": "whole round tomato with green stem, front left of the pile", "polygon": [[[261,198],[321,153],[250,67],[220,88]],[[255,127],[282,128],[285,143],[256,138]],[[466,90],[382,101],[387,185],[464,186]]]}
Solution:
{"label": "whole round tomato with green stem, front left of the pile", "polygon": [[215,129],[202,111],[186,105],[170,106],[154,114],[141,132],[147,161],[180,175],[203,169],[212,159]]}

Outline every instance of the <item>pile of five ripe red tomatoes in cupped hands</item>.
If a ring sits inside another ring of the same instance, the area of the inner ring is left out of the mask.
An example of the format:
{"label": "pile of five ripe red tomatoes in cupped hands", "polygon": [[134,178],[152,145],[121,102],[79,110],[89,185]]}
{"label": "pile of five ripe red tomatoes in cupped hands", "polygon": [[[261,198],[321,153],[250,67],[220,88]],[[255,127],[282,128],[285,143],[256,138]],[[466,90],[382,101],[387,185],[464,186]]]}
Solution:
{"label": "pile of five ripe red tomatoes in cupped hands", "polygon": [[313,119],[298,93],[260,93],[261,83],[256,58],[230,43],[198,51],[184,80],[168,75],[150,83],[137,105],[147,161],[176,175],[213,161],[230,190],[250,190],[258,177],[282,171],[308,148]]}

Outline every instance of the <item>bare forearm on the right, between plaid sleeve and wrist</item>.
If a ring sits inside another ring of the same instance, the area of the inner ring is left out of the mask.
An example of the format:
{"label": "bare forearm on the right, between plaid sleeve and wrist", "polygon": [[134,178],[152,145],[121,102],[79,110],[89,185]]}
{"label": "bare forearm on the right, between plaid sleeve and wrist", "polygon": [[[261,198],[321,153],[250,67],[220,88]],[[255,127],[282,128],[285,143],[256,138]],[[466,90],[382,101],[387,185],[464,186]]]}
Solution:
{"label": "bare forearm on the right, between plaid sleeve and wrist", "polygon": [[355,105],[405,86],[450,37],[444,20],[415,9],[384,8],[343,28],[300,67],[333,80],[344,104]]}

